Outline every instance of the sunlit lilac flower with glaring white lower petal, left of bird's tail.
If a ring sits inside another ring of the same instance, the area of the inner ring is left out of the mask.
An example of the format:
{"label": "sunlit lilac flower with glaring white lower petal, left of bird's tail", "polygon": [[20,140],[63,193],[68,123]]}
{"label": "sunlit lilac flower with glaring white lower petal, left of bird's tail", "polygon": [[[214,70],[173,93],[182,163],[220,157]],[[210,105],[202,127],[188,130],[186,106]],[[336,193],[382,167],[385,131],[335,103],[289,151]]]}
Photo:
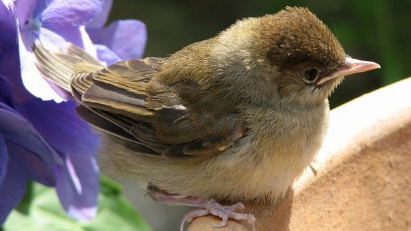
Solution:
{"label": "sunlit lilac flower with glaring white lower petal, left of bird's tail", "polygon": [[71,42],[88,53],[95,53],[84,25],[101,11],[102,4],[102,0],[16,1],[21,72],[23,84],[30,93],[57,103],[69,99],[69,94],[43,79],[36,71],[32,44],[38,40],[47,49],[55,50]]}

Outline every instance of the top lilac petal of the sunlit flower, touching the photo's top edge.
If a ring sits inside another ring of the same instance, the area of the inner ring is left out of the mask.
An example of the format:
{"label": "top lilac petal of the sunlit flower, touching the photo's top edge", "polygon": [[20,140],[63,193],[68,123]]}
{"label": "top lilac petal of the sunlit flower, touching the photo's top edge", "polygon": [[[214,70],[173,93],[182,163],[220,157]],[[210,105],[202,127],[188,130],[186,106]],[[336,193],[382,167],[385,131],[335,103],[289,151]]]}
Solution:
{"label": "top lilac petal of the sunlit flower, touching the photo's top edge", "polygon": [[101,12],[103,0],[54,0],[46,4],[41,18],[43,27],[79,27]]}

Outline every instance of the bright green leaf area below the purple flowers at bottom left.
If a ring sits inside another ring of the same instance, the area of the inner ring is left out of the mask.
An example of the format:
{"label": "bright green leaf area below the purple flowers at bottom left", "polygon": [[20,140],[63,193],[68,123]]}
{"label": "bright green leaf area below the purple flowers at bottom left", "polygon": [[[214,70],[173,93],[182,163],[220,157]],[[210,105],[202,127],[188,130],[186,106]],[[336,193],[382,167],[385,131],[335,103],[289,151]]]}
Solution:
{"label": "bright green leaf area below the purple flowers at bottom left", "polygon": [[53,188],[30,182],[29,190],[3,224],[3,230],[152,230],[136,213],[132,203],[121,195],[121,185],[105,176],[101,176],[100,182],[99,210],[91,221],[71,219],[64,212]]}

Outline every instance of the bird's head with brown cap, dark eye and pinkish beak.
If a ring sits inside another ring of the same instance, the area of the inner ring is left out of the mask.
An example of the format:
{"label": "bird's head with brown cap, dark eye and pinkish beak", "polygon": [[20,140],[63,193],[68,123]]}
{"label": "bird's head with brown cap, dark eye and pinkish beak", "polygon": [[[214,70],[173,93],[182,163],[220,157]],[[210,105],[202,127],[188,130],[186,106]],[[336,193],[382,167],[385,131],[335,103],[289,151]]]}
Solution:
{"label": "bird's head with brown cap, dark eye and pinkish beak", "polygon": [[[240,82],[254,83],[245,85],[256,86],[261,94],[253,99],[260,102],[275,98],[286,104],[318,105],[345,76],[379,68],[346,55],[327,26],[306,8],[238,21],[221,33],[220,41],[218,49],[229,54],[220,57],[237,65],[237,72],[247,73],[233,74]],[[225,69],[229,70],[221,68]]]}

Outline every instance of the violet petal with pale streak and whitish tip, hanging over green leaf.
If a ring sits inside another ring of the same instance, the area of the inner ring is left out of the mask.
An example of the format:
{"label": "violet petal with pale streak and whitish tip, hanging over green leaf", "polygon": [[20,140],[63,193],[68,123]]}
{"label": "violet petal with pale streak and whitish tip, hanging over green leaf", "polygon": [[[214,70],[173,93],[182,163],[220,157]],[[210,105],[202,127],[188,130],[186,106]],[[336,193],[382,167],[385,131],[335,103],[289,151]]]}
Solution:
{"label": "violet petal with pale streak and whitish tip, hanging over green leaf", "polygon": [[99,194],[99,169],[95,159],[88,155],[71,155],[64,167],[59,168],[55,189],[64,209],[75,219],[94,218]]}

